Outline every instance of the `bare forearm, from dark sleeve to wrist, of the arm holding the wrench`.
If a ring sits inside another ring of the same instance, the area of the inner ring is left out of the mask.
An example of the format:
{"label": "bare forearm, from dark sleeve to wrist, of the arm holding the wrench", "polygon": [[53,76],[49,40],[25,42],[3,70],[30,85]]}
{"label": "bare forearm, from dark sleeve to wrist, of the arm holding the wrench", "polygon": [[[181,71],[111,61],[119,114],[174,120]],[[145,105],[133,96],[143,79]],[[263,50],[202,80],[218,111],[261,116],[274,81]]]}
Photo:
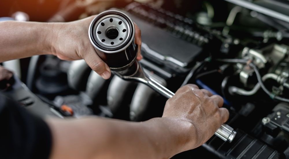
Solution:
{"label": "bare forearm, from dark sleeve to wrist, of the arm holding the wrench", "polygon": [[[142,123],[87,118],[49,120],[53,134],[51,158],[170,158],[194,147],[185,135],[190,124],[154,118]],[[192,131],[194,134],[194,131]],[[61,156],[70,155],[70,156]]]}

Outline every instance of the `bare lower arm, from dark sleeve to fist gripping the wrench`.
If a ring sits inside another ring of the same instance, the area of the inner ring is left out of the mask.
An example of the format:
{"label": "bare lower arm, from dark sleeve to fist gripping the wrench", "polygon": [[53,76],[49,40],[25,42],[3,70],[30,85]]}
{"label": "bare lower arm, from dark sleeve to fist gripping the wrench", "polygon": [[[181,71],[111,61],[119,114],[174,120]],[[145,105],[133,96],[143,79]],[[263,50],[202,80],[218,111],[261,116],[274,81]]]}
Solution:
{"label": "bare lower arm, from dark sleeve to fist gripping the wrench", "polygon": [[114,119],[49,119],[51,158],[170,158],[205,143],[227,121],[220,96],[195,85],[180,88],[162,118],[141,123]]}

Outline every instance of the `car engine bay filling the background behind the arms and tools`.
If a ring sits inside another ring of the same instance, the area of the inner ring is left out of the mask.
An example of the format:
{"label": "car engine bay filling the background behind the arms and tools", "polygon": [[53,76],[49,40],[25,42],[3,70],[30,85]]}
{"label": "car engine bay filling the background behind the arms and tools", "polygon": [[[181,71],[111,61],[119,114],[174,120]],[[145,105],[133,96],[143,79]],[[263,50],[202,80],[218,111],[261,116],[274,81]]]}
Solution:
{"label": "car engine bay filling the background behind the arms and tools", "polygon": [[[237,132],[231,143],[213,136],[173,158],[289,158],[289,1],[155,0],[113,7],[142,31],[145,73],[173,92],[186,84],[207,89],[222,96],[230,112],[226,124]],[[84,60],[34,56],[20,65],[20,79],[3,93],[41,116],[145,121],[161,117],[167,100],[116,75],[104,80]]]}

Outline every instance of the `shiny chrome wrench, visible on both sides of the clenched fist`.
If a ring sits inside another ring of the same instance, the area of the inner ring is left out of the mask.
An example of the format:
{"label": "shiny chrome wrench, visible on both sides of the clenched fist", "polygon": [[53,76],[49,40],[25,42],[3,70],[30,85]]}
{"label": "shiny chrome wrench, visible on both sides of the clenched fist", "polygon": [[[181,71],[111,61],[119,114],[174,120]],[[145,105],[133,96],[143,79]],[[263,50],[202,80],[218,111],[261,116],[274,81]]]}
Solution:
{"label": "shiny chrome wrench, visible on both sides of the clenched fist", "polygon": [[[121,77],[122,79],[138,81],[138,82],[141,82],[143,84],[146,84],[147,86],[149,86],[153,90],[157,91],[158,93],[160,93],[161,95],[163,95],[166,98],[171,98],[175,95],[175,93],[171,92],[166,87],[162,86],[157,81],[155,81],[154,79],[152,79],[151,77],[146,75],[142,69],[142,66],[140,65],[140,63],[138,61],[136,61],[136,64],[137,64],[136,72],[132,75],[129,75],[129,76],[128,75],[122,75],[119,72],[114,72],[114,73],[116,75],[118,75],[119,77]],[[237,132],[234,131],[234,129],[232,127],[230,127],[227,124],[223,124],[215,132],[215,135],[218,136],[219,138],[221,138],[222,140],[228,141],[229,143],[231,143],[232,140],[235,138],[236,133]]]}

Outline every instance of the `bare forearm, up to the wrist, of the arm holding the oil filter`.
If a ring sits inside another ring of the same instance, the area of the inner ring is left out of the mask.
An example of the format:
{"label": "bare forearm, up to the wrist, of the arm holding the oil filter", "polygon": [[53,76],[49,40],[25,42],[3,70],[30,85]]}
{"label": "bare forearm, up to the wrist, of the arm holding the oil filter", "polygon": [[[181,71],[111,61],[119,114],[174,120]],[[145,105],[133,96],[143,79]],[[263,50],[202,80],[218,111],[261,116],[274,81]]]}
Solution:
{"label": "bare forearm, up to the wrist, of the arm holding the oil filter", "polygon": [[50,51],[52,23],[4,21],[0,30],[0,62]]}

